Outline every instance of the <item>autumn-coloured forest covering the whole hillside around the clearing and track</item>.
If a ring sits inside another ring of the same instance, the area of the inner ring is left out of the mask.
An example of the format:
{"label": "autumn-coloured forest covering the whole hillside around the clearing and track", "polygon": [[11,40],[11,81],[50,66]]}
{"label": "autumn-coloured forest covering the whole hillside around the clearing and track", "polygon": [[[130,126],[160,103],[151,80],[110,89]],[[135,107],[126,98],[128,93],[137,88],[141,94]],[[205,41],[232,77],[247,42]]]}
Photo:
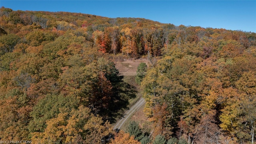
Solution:
{"label": "autumn-coloured forest covering the whole hillside around the clearing and track", "polygon": [[[114,124],[136,97],[150,130]],[[0,140],[34,144],[256,143],[256,33],[144,18],[0,8]]]}

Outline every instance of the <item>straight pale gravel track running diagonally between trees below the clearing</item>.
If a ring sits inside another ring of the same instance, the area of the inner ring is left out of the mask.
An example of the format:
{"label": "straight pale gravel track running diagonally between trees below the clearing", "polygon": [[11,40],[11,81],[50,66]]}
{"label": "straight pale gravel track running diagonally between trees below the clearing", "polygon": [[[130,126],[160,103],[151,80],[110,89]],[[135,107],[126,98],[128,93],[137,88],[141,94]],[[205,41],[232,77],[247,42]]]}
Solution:
{"label": "straight pale gravel track running diagonally between trees below the clearing", "polygon": [[136,102],[136,104],[134,104],[130,110],[128,110],[125,114],[124,117],[119,120],[118,122],[116,122],[116,125],[114,126],[114,130],[120,130],[120,128],[122,127],[122,125],[126,122],[126,120],[128,120],[128,118],[138,109],[140,108],[143,104],[145,104],[145,100],[144,98],[140,98],[140,100],[138,100],[138,102]]}

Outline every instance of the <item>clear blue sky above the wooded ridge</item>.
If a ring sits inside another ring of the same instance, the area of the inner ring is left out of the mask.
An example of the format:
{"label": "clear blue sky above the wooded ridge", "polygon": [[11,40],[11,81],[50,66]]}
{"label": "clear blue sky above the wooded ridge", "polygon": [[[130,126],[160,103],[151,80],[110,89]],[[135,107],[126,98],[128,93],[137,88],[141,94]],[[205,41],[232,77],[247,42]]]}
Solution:
{"label": "clear blue sky above the wooded ridge", "polygon": [[256,32],[256,0],[0,0],[2,6]]}

